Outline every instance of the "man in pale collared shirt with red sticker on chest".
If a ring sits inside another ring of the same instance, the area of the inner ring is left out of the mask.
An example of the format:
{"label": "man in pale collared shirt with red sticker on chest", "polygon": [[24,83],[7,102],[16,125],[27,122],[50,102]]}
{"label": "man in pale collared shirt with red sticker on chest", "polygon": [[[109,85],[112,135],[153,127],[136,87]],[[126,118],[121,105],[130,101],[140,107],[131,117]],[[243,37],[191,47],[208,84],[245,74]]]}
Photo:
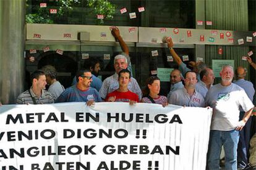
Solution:
{"label": "man in pale collared shirt with red sticker on chest", "polygon": [[185,86],[182,89],[177,89],[171,94],[168,103],[187,107],[204,107],[203,96],[195,90],[197,74],[194,71],[187,71],[184,83]]}

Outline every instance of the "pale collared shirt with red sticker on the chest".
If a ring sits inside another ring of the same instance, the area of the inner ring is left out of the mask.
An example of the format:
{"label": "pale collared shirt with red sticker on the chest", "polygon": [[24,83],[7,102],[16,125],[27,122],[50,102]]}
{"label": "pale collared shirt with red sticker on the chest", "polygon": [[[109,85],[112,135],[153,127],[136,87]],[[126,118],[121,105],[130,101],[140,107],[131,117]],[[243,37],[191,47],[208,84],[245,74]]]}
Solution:
{"label": "pale collared shirt with red sticker on the chest", "polygon": [[182,89],[178,89],[171,94],[169,104],[187,106],[187,107],[204,107],[205,100],[203,96],[198,93],[196,90],[194,94],[190,97],[187,93],[187,89],[183,87]]}

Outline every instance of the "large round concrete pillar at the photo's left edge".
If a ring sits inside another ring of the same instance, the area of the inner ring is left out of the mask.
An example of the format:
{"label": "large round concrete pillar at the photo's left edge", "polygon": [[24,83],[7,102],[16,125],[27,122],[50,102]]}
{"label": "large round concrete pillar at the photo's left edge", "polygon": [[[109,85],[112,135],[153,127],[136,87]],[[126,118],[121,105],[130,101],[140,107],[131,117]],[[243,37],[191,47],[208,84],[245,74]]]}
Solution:
{"label": "large round concrete pillar at the photo's left edge", "polygon": [[25,77],[25,0],[1,0],[0,25],[0,100],[11,104]]}

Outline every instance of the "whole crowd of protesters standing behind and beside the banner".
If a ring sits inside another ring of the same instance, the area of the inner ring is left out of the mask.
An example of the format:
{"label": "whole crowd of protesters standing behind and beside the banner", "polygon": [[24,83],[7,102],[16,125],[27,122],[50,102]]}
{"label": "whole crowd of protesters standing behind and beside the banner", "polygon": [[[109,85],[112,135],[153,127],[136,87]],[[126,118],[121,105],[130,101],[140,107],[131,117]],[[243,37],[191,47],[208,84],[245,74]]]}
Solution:
{"label": "whole crowd of protesters standing behind and beside the banner", "polygon": [[[103,82],[97,78],[100,71],[98,60],[88,60],[83,70],[79,70],[72,86],[64,87],[56,80],[56,70],[46,66],[31,75],[32,86],[17,97],[17,104],[44,104],[59,102],[138,102],[168,104],[182,107],[211,107],[210,141],[207,153],[207,169],[219,169],[221,147],[224,147],[226,169],[247,168],[249,166],[250,126],[255,90],[250,81],[245,80],[247,70],[243,67],[224,65],[220,71],[221,83],[213,85],[213,70],[202,62],[191,62],[192,70],[182,62],[173,49],[173,41],[167,38],[169,51],[179,69],[170,73],[170,91],[159,95],[160,78],[150,76],[141,89],[132,77],[129,49],[122,40],[118,28],[112,28],[113,36],[121,44],[123,54],[114,57],[115,73]],[[247,58],[252,67],[256,64]],[[233,83],[233,77],[236,81]],[[49,84],[48,91],[45,90]],[[240,137],[239,137],[240,136]],[[237,147],[238,146],[238,147]]]}

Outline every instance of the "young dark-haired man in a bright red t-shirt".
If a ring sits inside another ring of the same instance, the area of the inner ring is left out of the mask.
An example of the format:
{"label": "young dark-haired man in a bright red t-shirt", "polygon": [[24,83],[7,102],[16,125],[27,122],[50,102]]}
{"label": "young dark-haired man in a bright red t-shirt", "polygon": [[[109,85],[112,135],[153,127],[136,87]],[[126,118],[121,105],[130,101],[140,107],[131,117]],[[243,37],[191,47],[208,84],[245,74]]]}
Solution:
{"label": "young dark-haired man in a bright red t-shirt", "polygon": [[110,92],[105,101],[106,102],[129,102],[130,105],[139,102],[139,96],[134,92],[129,91],[128,84],[131,81],[130,71],[123,69],[118,73],[119,87],[113,92]]}

